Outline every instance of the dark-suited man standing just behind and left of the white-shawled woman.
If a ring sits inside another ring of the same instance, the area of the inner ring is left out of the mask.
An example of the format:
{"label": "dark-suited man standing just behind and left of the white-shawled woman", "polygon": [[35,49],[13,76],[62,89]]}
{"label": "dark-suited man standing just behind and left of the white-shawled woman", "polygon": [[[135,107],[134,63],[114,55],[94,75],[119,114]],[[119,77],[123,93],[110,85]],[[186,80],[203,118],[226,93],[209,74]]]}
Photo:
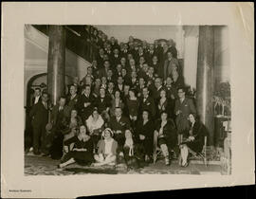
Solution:
{"label": "dark-suited man standing just behind and left of the white-shawled woman", "polygon": [[91,86],[86,84],[84,87],[84,93],[78,101],[78,109],[82,118],[82,122],[84,122],[85,119],[87,119],[92,114],[93,101],[94,97],[91,94]]}

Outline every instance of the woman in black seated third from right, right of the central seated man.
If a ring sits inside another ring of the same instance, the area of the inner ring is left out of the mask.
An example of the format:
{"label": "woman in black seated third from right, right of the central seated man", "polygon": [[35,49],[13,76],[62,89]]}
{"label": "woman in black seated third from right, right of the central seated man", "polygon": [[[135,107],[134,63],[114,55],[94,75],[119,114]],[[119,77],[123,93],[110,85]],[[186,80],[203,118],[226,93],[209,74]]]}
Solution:
{"label": "woman in black seated third from right, right of the central seated man", "polygon": [[144,159],[146,162],[150,161],[153,153],[153,138],[155,125],[150,118],[150,113],[147,110],[142,112],[142,118],[137,122],[137,142],[144,148]]}

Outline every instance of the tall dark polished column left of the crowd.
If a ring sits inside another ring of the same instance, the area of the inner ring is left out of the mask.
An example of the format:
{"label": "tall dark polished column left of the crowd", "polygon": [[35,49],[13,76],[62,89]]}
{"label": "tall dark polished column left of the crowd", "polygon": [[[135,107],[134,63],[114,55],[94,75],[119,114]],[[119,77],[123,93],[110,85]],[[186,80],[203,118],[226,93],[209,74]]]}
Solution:
{"label": "tall dark polished column left of the crowd", "polygon": [[64,95],[65,39],[63,26],[49,26],[49,47],[47,63],[47,89],[55,105]]}

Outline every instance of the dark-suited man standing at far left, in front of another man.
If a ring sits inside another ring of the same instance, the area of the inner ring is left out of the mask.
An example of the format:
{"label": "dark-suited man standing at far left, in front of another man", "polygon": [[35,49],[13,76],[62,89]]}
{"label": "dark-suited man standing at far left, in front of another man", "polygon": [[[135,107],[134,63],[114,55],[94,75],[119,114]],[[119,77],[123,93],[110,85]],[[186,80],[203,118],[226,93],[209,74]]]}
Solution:
{"label": "dark-suited man standing at far left, in front of another man", "polygon": [[[41,154],[44,152],[44,141],[46,137],[46,124],[48,121],[48,107],[47,107],[48,94],[43,93],[42,100],[36,103],[29,113],[32,118],[33,128],[33,154]],[[42,140],[42,142],[41,142]]]}

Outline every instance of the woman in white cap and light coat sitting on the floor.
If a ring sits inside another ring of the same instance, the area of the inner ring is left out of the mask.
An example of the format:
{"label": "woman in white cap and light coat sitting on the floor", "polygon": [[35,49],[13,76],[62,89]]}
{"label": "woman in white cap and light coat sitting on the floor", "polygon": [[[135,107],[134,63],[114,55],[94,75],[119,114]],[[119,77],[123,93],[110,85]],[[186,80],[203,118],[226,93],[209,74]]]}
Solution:
{"label": "woman in white cap and light coat sitting on the floor", "polygon": [[94,155],[96,163],[94,166],[116,165],[118,142],[112,137],[113,132],[110,128],[106,128],[102,132],[104,139],[98,143],[98,154]]}

